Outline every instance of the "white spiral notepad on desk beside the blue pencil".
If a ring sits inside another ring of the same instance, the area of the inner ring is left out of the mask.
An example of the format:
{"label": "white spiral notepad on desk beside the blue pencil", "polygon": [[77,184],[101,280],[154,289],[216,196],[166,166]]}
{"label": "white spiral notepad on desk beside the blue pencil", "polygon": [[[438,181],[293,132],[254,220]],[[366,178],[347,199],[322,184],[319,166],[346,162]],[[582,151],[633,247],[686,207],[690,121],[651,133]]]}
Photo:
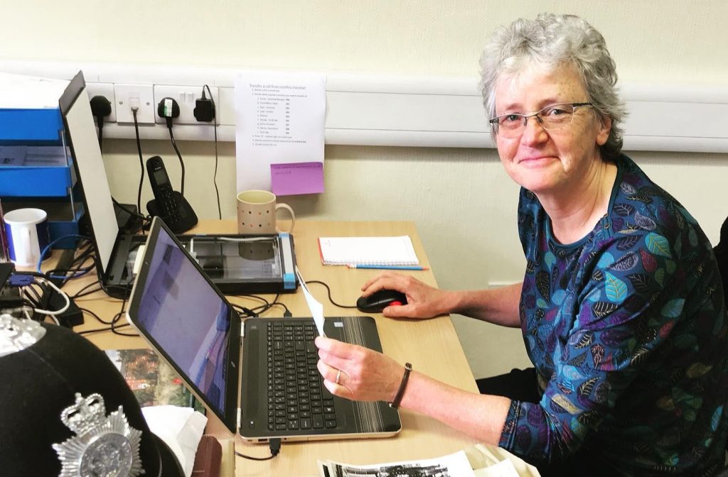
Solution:
{"label": "white spiral notepad on desk beside the blue pencil", "polygon": [[324,265],[419,265],[409,236],[321,237]]}

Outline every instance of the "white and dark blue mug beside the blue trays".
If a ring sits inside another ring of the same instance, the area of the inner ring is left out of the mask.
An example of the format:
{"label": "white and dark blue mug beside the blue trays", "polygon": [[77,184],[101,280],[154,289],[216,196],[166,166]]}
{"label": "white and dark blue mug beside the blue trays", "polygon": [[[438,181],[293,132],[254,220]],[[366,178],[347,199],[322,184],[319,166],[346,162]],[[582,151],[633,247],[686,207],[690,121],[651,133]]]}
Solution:
{"label": "white and dark blue mug beside the blue trays", "polygon": [[[15,265],[36,265],[48,246],[48,215],[41,209],[15,209],[3,217],[10,260]],[[45,257],[50,254],[46,253]]]}

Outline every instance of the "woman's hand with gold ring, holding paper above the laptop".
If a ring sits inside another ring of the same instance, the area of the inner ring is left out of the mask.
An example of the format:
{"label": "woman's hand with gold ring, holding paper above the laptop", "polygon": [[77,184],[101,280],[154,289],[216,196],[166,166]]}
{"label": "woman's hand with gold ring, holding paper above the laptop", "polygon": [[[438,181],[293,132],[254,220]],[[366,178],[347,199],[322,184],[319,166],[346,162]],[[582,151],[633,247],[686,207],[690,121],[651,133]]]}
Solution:
{"label": "woman's hand with gold ring, holding paper above the laptop", "polygon": [[[353,401],[392,401],[404,366],[382,353],[322,336],[316,337],[318,370],[335,396]],[[338,379],[338,383],[337,381]]]}

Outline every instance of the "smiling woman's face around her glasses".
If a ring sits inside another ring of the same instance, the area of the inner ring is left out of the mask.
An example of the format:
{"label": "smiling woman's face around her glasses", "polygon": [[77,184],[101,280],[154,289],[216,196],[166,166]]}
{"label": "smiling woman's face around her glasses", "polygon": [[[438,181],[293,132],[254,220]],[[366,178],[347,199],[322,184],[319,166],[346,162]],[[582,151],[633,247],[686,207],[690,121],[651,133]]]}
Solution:
{"label": "smiling woman's face around her glasses", "polygon": [[[545,70],[529,65],[525,70],[496,81],[496,116],[530,114],[555,103],[585,103],[587,93],[571,65]],[[587,172],[600,160],[599,146],[606,143],[612,122],[599,121],[590,107],[574,110],[571,124],[544,129],[535,117],[528,119],[519,137],[496,134],[501,162],[516,183],[537,195],[563,196],[587,180]],[[604,124],[602,124],[604,122]]]}

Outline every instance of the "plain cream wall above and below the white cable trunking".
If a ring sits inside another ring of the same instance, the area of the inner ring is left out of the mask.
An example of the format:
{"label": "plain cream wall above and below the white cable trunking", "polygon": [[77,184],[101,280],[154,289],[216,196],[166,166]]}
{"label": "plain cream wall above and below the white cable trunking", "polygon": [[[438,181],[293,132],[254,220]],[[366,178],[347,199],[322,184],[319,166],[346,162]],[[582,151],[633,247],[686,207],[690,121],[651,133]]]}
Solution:
{"label": "plain cream wall above and below the white cable trunking", "polygon": [[[475,76],[480,46],[496,25],[545,10],[582,15],[596,26],[622,80],[728,82],[724,0],[4,1],[0,61]],[[135,202],[135,144],[107,140],[104,146],[112,193]],[[216,217],[213,145],[179,146],[186,159],[186,195],[199,215]],[[178,178],[168,142],[149,141],[143,148],[145,158],[165,157],[173,180]],[[687,206],[715,242],[728,215],[728,155],[632,156]],[[414,220],[446,288],[520,278],[518,187],[494,150],[327,146],[325,157],[326,193],[286,199],[299,217]],[[223,217],[232,217],[232,143],[221,144],[220,158]],[[143,201],[149,198],[146,186]],[[517,330],[459,317],[456,326],[476,377],[525,364]]]}

